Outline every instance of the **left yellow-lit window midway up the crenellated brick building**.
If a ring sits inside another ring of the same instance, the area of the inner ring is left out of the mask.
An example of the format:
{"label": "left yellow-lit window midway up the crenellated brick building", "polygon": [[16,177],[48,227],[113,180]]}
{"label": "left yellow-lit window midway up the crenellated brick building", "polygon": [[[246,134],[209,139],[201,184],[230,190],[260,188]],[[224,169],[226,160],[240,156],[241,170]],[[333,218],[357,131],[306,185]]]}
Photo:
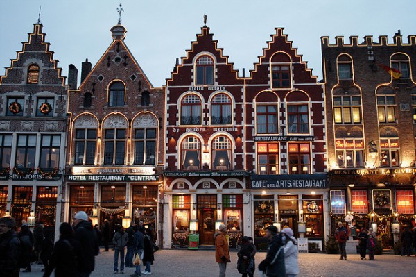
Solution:
{"label": "left yellow-lit window midway up the crenellated brick building", "polygon": [[333,117],[335,123],[361,123],[360,96],[334,96]]}

